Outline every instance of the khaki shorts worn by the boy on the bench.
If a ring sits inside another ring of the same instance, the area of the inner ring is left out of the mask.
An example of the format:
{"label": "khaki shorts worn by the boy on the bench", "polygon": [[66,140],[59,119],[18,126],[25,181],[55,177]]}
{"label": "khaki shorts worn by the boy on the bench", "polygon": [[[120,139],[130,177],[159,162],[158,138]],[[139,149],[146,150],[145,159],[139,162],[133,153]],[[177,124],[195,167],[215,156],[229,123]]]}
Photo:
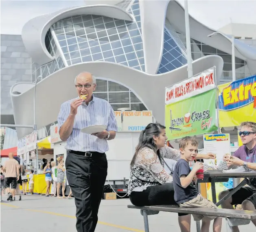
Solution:
{"label": "khaki shorts worn by the boy on the bench", "polygon": [[[204,198],[201,194],[198,194],[196,198],[188,201],[188,202],[183,202],[181,204],[179,204],[180,207],[203,207],[203,208],[217,208],[217,206],[207,200],[206,198]],[[201,219],[203,219],[204,217],[210,220],[215,219],[216,217],[214,216],[205,216],[205,215],[194,215],[194,221],[200,221]]]}

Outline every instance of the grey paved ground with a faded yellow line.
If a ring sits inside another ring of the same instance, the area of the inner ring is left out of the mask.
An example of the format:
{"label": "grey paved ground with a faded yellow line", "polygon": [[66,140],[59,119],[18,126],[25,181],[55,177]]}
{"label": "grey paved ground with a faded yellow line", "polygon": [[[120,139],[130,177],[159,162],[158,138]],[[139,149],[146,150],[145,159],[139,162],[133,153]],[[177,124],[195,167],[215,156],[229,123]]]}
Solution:
{"label": "grey paved ground with a faded yellow line", "polygon": [[[140,211],[128,209],[127,204],[130,204],[129,199],[102,200],[95,232],[143,232]],[[7,202],[4,196],[1,202],[1,230],[76,232],[75,211],[74,199],[22,195],[21,201]],[[224,221],[222,232],[226,232]],[[191,232],[195,232],[195,222],[191,224]],[[177,214],[160,212],[149,216],[149,228],[150,232],[179,232]],[[240,228],[246,232],[256,231],[252,223]]]}

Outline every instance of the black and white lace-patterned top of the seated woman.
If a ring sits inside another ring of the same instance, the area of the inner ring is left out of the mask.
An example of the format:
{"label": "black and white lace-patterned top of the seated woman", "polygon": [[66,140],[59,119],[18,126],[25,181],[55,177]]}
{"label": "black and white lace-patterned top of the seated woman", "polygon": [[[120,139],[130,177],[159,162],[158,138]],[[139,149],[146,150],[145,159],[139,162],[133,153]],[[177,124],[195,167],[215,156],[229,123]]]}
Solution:
{"label": "black and white lace-patterned top of the seated woman", "polygon": [[[179,150],[164,146],[159,149],[160,155],[168,159],[179,159]],[[139,180],[138,178],[141,180]],[[142,180],[147,180],[149,183]],[[164,164],[160,162],[158,155],[150,148],[142,148],[138,152],[135,165],[131,169],[128,184],[128,194],[132,191],[143,191],[149,186],[173,182],[173,177],[164,170]]]}

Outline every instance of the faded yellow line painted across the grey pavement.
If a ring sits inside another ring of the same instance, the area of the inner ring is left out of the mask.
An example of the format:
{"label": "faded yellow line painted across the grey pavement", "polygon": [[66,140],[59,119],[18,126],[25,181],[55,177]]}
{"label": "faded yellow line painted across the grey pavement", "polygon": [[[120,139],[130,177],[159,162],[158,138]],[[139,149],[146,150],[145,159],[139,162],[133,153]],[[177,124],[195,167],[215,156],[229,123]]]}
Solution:
{"label": "faded yellow line painted across the grey pavement", "polygon": [[[14,205],[8,204],[8,203],[2,203],[1,202],[1,204],[5,205],[5,206],[13,207],[13,208],[20,208],[18,206],[14,206]],[[46,213],[46,214],[51,214],[51,215],[55,215],[55,216],[68,217],[68,218],[76,219],[75,216],[65,215],[65,214],[61,214],[61,213],[54,213],[54,212],[50,212],[50,211],[42,211],[42,210],[35,210],[35,209],[24,209],[24,208],[21,208],[21,209],[26,210],[26,211],[31,211],[31,212]],[[103,221],[98,221],[98,223],[101,224],[101,225],[115,227],[115,228],[123,229],[123,230],[129,230],[129,231],[133,231],[133,232],[144,232],[144,230],[138,230],[138,229],[129,228],[129,227],[126,227],[126,226],[119,226],[119,225],[116,225],[116,224],[107,223],[107,222],[103,222]]]}

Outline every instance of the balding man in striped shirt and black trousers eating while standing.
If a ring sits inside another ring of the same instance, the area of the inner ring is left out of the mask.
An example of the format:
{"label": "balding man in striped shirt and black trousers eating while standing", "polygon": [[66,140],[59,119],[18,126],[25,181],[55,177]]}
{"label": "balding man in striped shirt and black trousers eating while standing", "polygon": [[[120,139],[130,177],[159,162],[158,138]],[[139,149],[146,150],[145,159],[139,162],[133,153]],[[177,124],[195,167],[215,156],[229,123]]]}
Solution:
{"label": "balding man in striped shirt and black trousers eating while standing", "polygon": [[[66,175],[77,207],[77,232],[94,232],[107,177],[107,140],[115,138],[117,123],[112,106],[93,95],[96,79],[91,73],[79,73],[74,86],[78,97],[61,105],[59,135],[67,141]],[[80,99],[81,95],[85,98]],[[93,134],[81,132],[92,125],[105,125],[107,129]]]}

